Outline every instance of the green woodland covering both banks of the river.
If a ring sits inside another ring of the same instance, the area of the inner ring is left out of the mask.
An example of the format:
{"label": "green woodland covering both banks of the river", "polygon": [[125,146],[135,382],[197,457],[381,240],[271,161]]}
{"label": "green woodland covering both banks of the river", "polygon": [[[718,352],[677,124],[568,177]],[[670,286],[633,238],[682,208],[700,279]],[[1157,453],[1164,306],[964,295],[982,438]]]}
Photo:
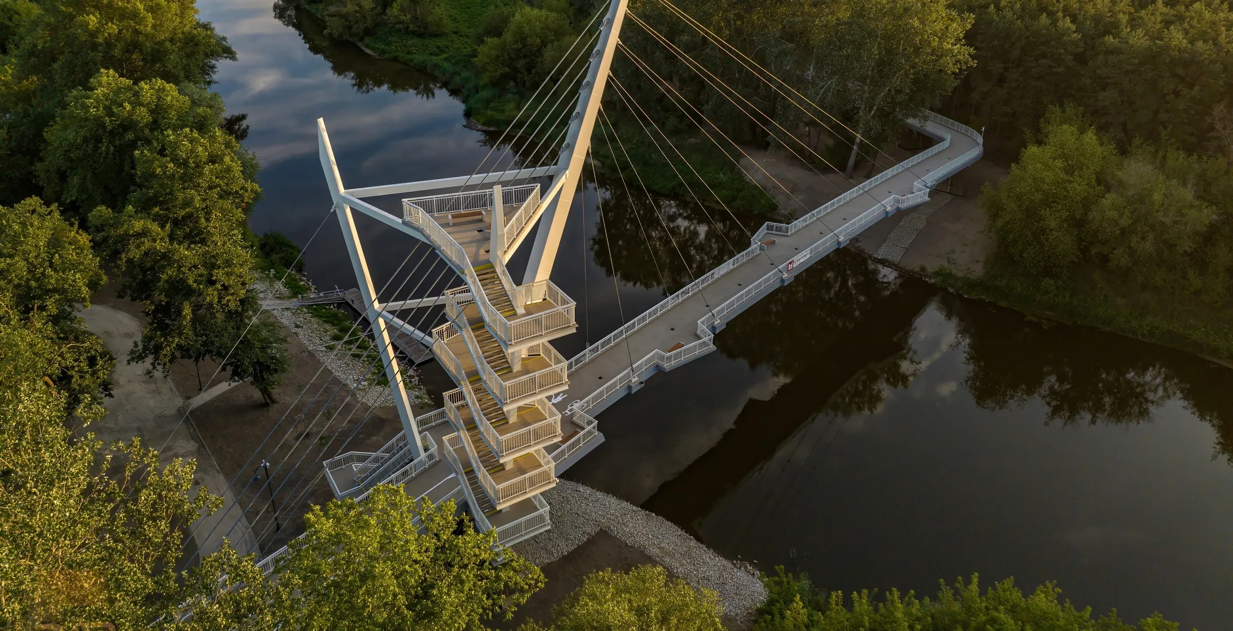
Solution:
{"label": "green woodland covering both banks of the river", "polygon": [[[309,5],[333,36],[436,69],[490,123],[508,120],[526,88],[551,75],[562,42],[596,9]],[[709,99],[704,111],[736,142],[799,145],[851,174],[925,107],[965,111],[990,129],[990,152],[1017,161],[985,192],[1000,259],[988,279],[963,281],[973,291],[1051,301],[1092,283],[1159,292],[1143,295],[1189,313],[1227,311],[1227,5],[681,6],[857,129],[846,138],[788,118],[771,94],[755,101],[764,126],[750,126],[730,101]],[[668,23],[656,16],[662,4],[635,10]],[[639,37],[655,35],[631,31],[629,46],[651,49]],[[715,53],[705,38],[687,46],[694,57]],[[221,498],[194,484],[194,462],[90,431],[106,414],[117,361],[166,371],[212,360],[268,397],[286,368],[286,340],[255,316],[253,282],[296,267],[297,256],[285,238],[248,229],[259,163],[242,145],[244,116],[228,115],[210,90],[234,55],[192,0],[0,0],[0,626],[462,630],[508,617],[543,587],[539,568],[475,531],[451,503],[417,504],[395,487],[313,507],[270,576],[227,546],[181,567],[186,525]],[[634,94],[653,88],[637,71],[618,68]],[[734,67],[720,71],[752,83]],[[695,97],[711,90],[681,85]],[[670,132],[684,127],[671,101],[645,102]],[[793,132],[764,136],[771,121]],[[725,195],[753,193],[736,182]],[[148,322],[123,359],[76,316],[109,276]],[[1191,339],[1227,340],[1223,320],[1211,322],[1208,338]],[[1026,381],[1025,392],[1036,387]],[[1137,626],[1116,613],[1094,620],[1059,603],[1052,584],[1025,596],[1007,582],[981,593],[973,578],[937,600],[896,592],[879,600],[822,592],[799,576],[764,582],[771,598],[757,629],[766,630],[1176,629],[1159,615]],[[723,627],[714,592],[652,567],[592,574],[541,622],[525,629]]]}

